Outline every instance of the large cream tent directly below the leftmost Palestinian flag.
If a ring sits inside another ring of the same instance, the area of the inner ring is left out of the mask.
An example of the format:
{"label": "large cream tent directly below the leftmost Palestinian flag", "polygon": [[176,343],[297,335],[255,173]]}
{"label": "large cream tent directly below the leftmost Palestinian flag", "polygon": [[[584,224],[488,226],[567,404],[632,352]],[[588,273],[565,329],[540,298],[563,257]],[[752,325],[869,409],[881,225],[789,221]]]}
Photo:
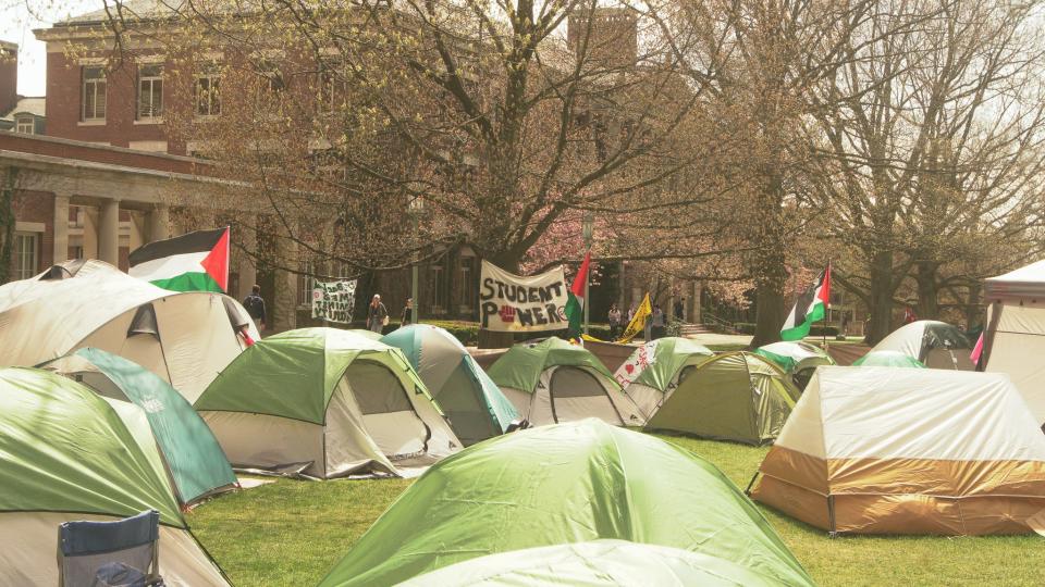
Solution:
{"label": "large cream tent directly below the leftmost Palestinian flag", "polygon": [[146,367],[189,402],[259,335],[234,299],[175,292],[101,261],[70,261],[0,287],[0,365],[94,347]]}

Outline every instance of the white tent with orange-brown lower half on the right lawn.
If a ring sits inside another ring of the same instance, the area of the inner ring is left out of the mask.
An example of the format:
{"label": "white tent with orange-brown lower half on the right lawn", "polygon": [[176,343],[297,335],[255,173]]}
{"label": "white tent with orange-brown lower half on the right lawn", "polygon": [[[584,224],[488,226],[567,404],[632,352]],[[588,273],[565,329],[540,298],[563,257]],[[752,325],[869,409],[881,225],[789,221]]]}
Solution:
{"label": "white tent with orange-brown lower half on the right lawn", "polygon": [[1000,374],[817,367],[752,497],[819,528],[1022,534],[1045,510],[1045,436]]}

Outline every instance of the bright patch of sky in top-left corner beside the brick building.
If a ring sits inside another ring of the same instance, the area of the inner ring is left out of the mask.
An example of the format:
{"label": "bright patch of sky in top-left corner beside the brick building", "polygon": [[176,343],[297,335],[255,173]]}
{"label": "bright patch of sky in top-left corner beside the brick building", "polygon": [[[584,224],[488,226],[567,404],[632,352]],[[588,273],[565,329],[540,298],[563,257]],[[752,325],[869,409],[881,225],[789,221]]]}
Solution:
{"label": "bright patch of sky in top-left corner beside the brick building", "polygon": [[44,96],[47,50],[33,36],[69,15],[102,8],[103,0],[0,0],[0,39],[19,43],[19,93]]}

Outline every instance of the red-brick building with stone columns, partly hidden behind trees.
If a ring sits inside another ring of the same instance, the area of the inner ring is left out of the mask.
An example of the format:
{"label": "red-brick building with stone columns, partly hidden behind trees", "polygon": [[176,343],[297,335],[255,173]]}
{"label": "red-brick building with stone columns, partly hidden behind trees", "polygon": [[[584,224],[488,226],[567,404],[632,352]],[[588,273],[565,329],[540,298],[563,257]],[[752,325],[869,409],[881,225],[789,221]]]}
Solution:
{"label": "red-brick building with stone columns, partly hidden behind trees", "polygon": [[[162,16],[156,11],[167,10],[162,3],[152,0],[126,2],[125,8],[132,9],[139,17]],[[35,32],[37,38],[47,43],[45,114],[46,135],[51,138],[22,139],[21,142],[0,138],[0,172],[17,168],[22,175],[16,276],[35,273],[58,261],[63,251],[66,257],[111,260],[125,268],[128,250],[186,228],[171,221],[170,210],[175,201],[164,199],[163,192],[170,193],[172,185],[192,185],[192,189],[199,190],[201,199],[206,200],[208,184],[198,174],[207,163],[185,157],[197,154],[198,146],[172,136],[165,115],[175,108],[187,107],[200,122],[220,117],[222,104],[217,89],[223,80],[201,64],[188,72],[187,77],[184,76],[186,72],[181,72],[183,79],[176,82],[171,75],[176,68],[173,57],[148,38],[133,38],[127,54],[110,59],[112,42],[106,20],[104,11],[95,11]],[[590,20],[570,18],[567,34],[571,43],[576,43],[585,32],[592,35],[590,42],[595,47],[594,54],[603,63],[626,67],[636,62],[636,21],[627,12],[599,10]],[[70,43],[76,45],[77,49],[70,51]],[[229,55],[217,50],[208,54],[208,59],[214,62],[235,59],[232,51],[226,53]],[[281,57],[287,58],[282,53]],[[310,68],[316,70],[315,66]],[[272,84],[284,84],[276,70],[272,71],[270,79]],[[228,79],[224,82],[229,83]],[[0,100],[2,93],[0,91]],[[49,158],[51,166],[21,171],[36,158]],[[81,184],[70,176],[87,173],[85,170],[90,170],[91,174],[108,174],[109,183],[99,184],[97,189],[88,192],[76,191],[77,188],[70,186]],[[47,174],[53,176],[41,178]],[[147,189],[140,189],[143,185]],[[202,205],[206,208],[206,202]],[[62,223],[56,227],[54,218],[65,214],[70,220],[63,230]],[[221,211],[210,214],[221,217]],[[202,224],[196,226],[204,227]],[[257,237],[251,238],[248,247],[257,246]],[[237,284],[239,291],[231,292],[243,295],[249,285],[260,283],[270,308],[280,316],[275,323],[280,328],[310,323],[307,304],[312,275],[341,273],[322,261],[302,261],[297,274],[259,271],[245,260],[237,261],[233,267],[231,283]],[[437,261],[422,264],[419,267],[418,300],[421,315],[426,319],[474,320],[478,311],[479,271],[480,259],[467,246],[446,250]],[[631,276],[632,272],[628,272],[629,282]],[[410,271],[366,275],[360,279],[358,291],[359,298],[366,299],[380,292],[393,316],[397,316],[409,296]],[[639,283],[622,284],[613,289],[613,294],[593,289],[593,320],[602,317],[602,308],[610,301],[626,307],[631,301],[637,302],[642,292]],[[362,303],[357,307],[361,310]]]}

